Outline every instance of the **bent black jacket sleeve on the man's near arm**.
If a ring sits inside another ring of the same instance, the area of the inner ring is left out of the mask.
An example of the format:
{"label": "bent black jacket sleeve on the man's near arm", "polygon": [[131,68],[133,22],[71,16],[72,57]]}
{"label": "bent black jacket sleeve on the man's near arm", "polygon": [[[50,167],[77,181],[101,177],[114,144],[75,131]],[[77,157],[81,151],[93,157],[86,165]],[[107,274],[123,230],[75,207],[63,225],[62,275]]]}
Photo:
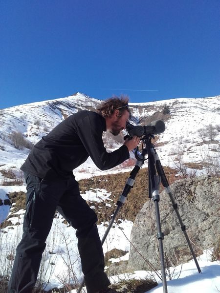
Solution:
{"label": "bent black jacket sleeve on the man's near arm", "polygon": [[97,116],[86,116],[77,126],[76,132],[88,155],[101,170],[113,168],[130,157],[128,147],[125,145],[113,152],[107,152],[102,140],[102,123],[101,120],[97,120]]}

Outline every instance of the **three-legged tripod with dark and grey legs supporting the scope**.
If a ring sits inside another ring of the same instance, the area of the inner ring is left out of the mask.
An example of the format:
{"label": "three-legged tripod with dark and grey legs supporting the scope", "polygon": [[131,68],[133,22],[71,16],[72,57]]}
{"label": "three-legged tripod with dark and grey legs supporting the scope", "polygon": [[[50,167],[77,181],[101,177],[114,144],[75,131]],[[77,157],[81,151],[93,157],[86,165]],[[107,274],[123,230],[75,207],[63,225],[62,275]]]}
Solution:
{"label": "three-legged tripod with dark and grey legs supporting the scope", "polygon": [[[114,223],[114,220],[120,211],[121,207],[125,204],[127,195],[130,192],[131,188],[133,187],[133,184],[135,182],[135,177],[144,164],[145,155],[148,155],[148,173],[149,173],[149,198],[153,198],[154,204],[155,204],[155,213],[156,213],[156,223],[157,223],[157,234],[156,237],[159,242],[159,253],[160,253],[160,264],[161,264],[161,273],[162,273],[162,282],[163,282],[163,292],[167,293],[167,280],[166,280],[166,271],[165,271],[165,261],[164,261],[164,251],[163,251],[163,239],[164,239],[164,233],[161,231],[161,222],[160,222],[160,213],[159,213],[159,186],[160,183],[164,186],[166,192],[169,194],[170,200],[172,202],[173,209],[176,211],[176,215],[178,217],[181,230],[183,231],[186,241],[188,243],[188,246],[190,248],[190,251],[192,253],[192,256],[194,258],[194,261],[196,263],[198,272],[201,272],[198,261],[196,258],[196,255],[193,251],[192,245],[190,243],[189,237],[186,233],[186,226],[183,224],[181,217],[179,215],[179,211],[177,209],[177,204],[173,198],[171,188],[169,186],[169,183],[167,181],[166,175],[164,173],[163,167],[160,163],[159,157],[156,153],[154,145],[151,143],[151,139],[154,138],[154,135],[145,135],[141,138],[143,141],[143,144],[145,145],[145,148],[142,149],[142,152],[138,154],[138,149],[135,151],[135,158],[137,159],[135,167],[132,169],[132,172],[130,173],[130,177],[127,180],[127,183],[116,203],[117,208],[112,216],[112,219],[110,221],[110,224],[101,240],[101,243],[103,243],[106,240],[106,237],[111,229],[111,226]],[[84,280],[80,284],[80,287],[78,288],[77,293],[80,293],[81,289],[84,286]]]}

